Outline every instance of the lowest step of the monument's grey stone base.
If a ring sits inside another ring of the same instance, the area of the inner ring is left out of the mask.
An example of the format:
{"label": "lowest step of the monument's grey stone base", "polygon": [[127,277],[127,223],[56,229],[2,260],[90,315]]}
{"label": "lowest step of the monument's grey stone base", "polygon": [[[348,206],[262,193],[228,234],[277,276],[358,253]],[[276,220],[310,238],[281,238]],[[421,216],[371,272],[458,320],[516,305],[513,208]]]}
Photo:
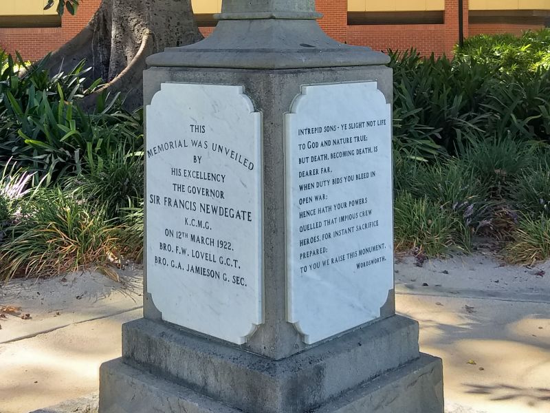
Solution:
{"label": "lowest step of the monument's grey stone base", "polygon": [[[443,413],[441,360],[420,354],[308,413]],[[240,383],[232,383],[238,388]],[[293,410],[279,410],[289,413]],[[102,413],[263,413],[243,411],[116,359],[100,370]],[[306,411],[304,411],[305,413]]]}

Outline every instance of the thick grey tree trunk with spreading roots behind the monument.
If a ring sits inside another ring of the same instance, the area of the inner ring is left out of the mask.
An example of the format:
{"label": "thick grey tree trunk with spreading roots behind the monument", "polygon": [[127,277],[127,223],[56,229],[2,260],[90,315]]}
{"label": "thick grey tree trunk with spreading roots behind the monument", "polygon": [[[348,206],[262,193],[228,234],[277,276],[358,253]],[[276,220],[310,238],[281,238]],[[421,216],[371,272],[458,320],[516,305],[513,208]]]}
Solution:
{"label": "thick grey tree trunk with spreading roots behind the monument", "polygon": [[[52,54],[48,66],[66,72],[86,59],[90,78],[107,83],[101,91],[121,92],[132,109],[143,102],[146,57],[201,39],[190,0],[102,0],[88,25]],[[92,95],[85,105],[94,102]]]}

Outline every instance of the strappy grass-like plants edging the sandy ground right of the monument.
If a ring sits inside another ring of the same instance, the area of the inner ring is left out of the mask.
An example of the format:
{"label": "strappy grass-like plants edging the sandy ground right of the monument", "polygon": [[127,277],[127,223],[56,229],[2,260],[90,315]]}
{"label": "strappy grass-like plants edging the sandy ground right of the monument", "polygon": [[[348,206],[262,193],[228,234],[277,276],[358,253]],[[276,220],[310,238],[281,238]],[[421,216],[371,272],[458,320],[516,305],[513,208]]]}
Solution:
{"label": "strappy grass-like plants edging the sandy ground right of the monument", "polygon": [[[517,151],[510,147],[514,145],[508,141],[488,139],[472,144],[461,158],[434,162],[397,153],[396,246],[437,256],[457,248],[470,251],[472,238],[490,237],[511,262],[550,257],[547,233],[542,230],[550,215],[546,160],[550,149],[529,144],[519,145]],[[410,171],[412,176],[404,176]],[[438,229],[441,220],[445,226]],[[537,225],[537,231],[526,231]],[[525,244],[527,233],[533,234],[529,253],[516,246]]]}

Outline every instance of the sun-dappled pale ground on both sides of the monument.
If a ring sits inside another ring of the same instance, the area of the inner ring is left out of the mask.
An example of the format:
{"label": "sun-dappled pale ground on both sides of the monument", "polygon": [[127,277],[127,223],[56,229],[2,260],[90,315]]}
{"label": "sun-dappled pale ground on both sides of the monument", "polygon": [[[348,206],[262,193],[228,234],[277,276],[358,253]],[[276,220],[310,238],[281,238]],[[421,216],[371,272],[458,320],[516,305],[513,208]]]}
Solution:
{"label": "sun-dappled pale ground on both sides of the monument", "polygon": [[[448,413],[550,412],[550,262],[502,266],[476,254],[397,260],[399,313],[421,326],[421,350],[443,358]],[[141,316],[141,277],[99,273],[0,287],[0,413],[94,405],[98,368],[120,356],[120,325]],[[426,285],[427,284],[427,285]],[[23,320],[21,315],[30,314]]]}

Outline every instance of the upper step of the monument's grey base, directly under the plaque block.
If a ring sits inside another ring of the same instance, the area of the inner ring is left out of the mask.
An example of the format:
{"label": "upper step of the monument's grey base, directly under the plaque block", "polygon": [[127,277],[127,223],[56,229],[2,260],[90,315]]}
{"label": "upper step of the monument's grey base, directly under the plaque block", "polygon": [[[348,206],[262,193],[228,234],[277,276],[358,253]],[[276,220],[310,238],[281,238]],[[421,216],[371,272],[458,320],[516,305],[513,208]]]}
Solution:
{"label": "upper step of the monument's grey base, directly under the plaque block", "polygon": [[419,357],[418,325],[399,316],[282,360],[146,319],[122,337],[126,363],[245,412],[305,412]]}

